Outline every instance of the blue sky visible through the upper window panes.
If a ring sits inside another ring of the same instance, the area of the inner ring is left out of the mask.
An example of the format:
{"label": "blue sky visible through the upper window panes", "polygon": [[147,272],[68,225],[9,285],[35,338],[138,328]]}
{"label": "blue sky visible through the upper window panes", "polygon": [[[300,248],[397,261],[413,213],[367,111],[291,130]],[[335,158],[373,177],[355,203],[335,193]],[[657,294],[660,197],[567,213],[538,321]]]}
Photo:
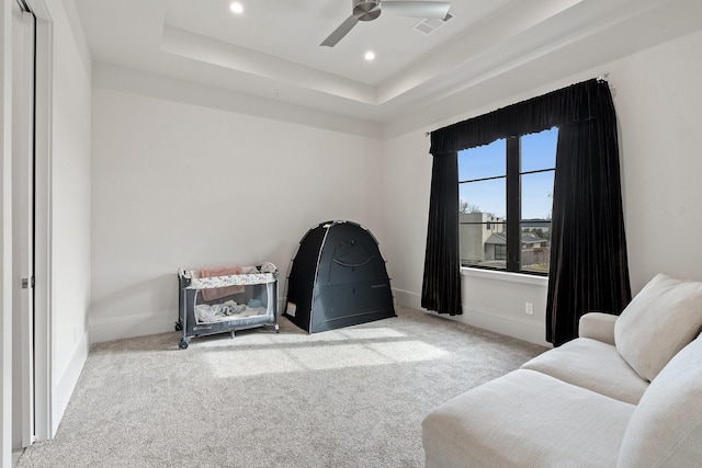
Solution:
{"label": "blue sky visible through the upper window panes", "polygon": [[[554,127],[521,138],[521,172],[553,169],[556,165]],[[458,181],[494,178],[507,173],[506,140],[463,150],[458,153]],[[551,218],[553,205],[554,172],[541,172],[522,176],[522,219]],[[458,185],[458,198],[472,208],[507,218],[506,180],[495,179]]]}

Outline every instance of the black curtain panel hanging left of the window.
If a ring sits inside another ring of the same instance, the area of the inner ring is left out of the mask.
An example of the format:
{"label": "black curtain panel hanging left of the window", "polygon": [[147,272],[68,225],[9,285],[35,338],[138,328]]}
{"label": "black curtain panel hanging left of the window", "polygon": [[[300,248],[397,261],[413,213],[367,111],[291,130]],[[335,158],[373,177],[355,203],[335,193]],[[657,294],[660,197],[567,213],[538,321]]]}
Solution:
{"label": "black curtain panel hanging left of the window", "polygon": [[458,153],[433,158],[427,253],[421,307],[439,313],[461,315],[458,254]]}

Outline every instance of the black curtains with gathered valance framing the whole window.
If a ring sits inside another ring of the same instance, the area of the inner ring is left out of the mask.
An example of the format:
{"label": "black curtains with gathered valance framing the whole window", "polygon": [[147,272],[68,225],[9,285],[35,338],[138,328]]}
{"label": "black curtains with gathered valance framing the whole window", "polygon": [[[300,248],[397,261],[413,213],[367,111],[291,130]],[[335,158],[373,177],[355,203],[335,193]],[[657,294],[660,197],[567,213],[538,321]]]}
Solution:
{"label": "black curtains with gathered valance framing the whole window", "polygon": [[[454,164],[457,151],[463,149],[553,126],[558,127],[558,149],[546,340],[558,345],[577,336],[578,319],[586,311],[619,313],[631,300],[616,116],[609,84],[588,80],[434,130],[430,152],[434,157],[433,173],[444,159]],[[440,187],[434,187],[435,179],[432,175],[422,307],[427,307],[424,298],[439,296],[442,304],[458,304],[460,313],[460,265],[454,266],[458,262],[457,172],[453,179],[446,173],[444,182],[437,182],[443,183]],[[443,198],[435,196],[435,191],[451,193]],[[455,217],[432,215],[439,209],[434,203],[449,203],[450,197]],[[453,236],[454,229],[455,256],[449,259],[441,240],[453,242],[442,236]],[[457,287],[443,284],[454,276]]]}

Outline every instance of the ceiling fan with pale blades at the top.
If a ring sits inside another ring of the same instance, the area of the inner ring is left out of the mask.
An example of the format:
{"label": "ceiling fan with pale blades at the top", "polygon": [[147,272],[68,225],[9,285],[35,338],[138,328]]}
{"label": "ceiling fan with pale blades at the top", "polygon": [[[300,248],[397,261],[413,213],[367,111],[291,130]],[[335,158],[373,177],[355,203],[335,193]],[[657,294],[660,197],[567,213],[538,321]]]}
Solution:
{"label": "ceiling fan with pale blades at the top", "polygon": [[451,3],[443,1],[351,0],[351,16],[333,30],[320,46],[336,46],[359,21],[373,21],[381,15],[381,11],[398,16],[443,20],[451,8]]}

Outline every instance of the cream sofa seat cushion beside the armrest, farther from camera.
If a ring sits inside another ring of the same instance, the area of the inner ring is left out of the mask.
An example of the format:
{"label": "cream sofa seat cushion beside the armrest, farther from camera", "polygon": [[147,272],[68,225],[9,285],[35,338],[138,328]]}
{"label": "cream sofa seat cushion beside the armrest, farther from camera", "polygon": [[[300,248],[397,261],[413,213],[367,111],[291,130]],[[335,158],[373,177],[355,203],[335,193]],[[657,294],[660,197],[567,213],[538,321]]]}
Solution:
{"label": "cream sofa seat cushion beside the armrest, farther from camera", "polygon": [[577,338],[528,361],[523,369],[552,377],[611,398],[636,404],[648,388],[616,349],[589,338]]}

